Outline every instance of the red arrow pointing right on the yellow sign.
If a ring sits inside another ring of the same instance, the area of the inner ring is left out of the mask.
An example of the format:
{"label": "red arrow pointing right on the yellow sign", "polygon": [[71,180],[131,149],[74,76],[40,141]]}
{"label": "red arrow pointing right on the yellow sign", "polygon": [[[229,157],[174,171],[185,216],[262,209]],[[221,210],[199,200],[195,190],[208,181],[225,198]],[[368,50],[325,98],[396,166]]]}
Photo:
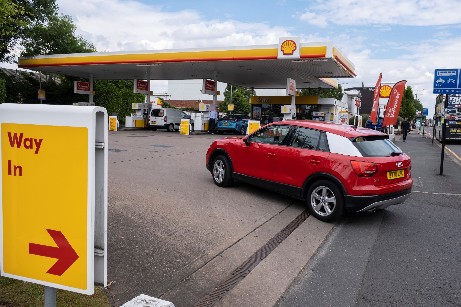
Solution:
{"label": "red arrow pointing right on the yellow sign", "polygon": [[47,229],[58,247],[29,243],[29,254],[56,258],[47,273],[61,276],[78,259],[78,255],[62,232]]}

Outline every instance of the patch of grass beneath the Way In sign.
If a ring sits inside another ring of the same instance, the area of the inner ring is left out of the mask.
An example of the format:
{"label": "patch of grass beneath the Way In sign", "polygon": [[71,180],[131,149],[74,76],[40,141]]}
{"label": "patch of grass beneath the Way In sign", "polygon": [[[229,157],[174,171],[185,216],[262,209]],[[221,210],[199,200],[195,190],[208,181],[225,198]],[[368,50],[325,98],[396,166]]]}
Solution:
{"label": "patch of grass beneath the Way In sign", "polygon": [[[0,307],[43,307],[44,287],[22,280],[0,277]],[[101,287],[95,287],[95,294],[57,290],[56,307],[110,307],[107,295]]]}

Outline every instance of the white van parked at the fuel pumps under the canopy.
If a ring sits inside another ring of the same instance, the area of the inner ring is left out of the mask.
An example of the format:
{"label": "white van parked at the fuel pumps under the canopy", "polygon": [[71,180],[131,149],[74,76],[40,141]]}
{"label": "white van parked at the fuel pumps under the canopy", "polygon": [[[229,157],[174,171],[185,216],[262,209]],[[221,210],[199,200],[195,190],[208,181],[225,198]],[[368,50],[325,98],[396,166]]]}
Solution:
{"label": "white van parked at the fuel pumps under the canopy", "polygon": [[169,132],[178,131],[181,119],[190,119],[190,124],[194,127],[194,120],[181,110],[169,108],[152,109],[149,114],[149,128],[152,131],[157,129],[166,129]]}

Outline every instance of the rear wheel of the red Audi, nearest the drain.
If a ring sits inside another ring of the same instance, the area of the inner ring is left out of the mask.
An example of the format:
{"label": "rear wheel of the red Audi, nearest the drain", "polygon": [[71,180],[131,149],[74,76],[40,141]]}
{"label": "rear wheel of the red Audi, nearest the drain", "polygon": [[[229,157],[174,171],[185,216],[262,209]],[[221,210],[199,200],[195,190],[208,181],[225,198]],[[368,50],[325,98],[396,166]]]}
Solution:
{"label": "rear wheel of the red Audi, nearest the drain", "polygon": [[316,181],[307,191],[307,208],[319,220],[337,220],[346,212],[343,191],[331,180]]}

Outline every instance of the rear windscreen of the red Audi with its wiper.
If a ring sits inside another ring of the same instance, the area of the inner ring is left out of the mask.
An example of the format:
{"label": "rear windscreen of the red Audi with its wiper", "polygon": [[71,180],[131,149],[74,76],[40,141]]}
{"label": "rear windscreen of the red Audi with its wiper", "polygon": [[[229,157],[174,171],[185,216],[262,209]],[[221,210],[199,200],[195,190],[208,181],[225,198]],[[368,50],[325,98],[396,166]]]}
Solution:
{"label": "rear windscreen of the red Audi with its wiper", "polygon": [[362,156],[397,156],[403,153],[385,135],[361,136],[351,141]]}

